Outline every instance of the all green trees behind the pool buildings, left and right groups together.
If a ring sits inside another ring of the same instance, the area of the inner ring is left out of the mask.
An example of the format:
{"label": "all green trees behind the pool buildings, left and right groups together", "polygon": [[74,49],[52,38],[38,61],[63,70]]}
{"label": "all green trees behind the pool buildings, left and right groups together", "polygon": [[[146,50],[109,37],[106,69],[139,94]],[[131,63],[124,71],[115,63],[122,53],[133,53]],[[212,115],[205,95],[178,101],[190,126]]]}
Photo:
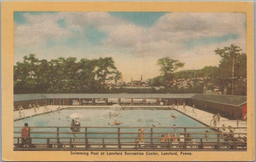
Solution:
{"label": "all green trees behind the pool buildings, left and right groups together", "polygon": [[[184,63],[169,57],[161,58],[157,60],[161,75],[149,79],[149,86],[163,86],[163,93],[172,93],[173,87],[169,83],[173,79],[206,77],[203,83],[196,80],[193,88],[201,91],[205,86],[207,89],[217,86],[222,94],[226,90],[228,95],[246,95],[246,54],[241,51],[239,46],[231,44],[214,51],[221,57],[219,67],[206,66],[199,70],[178,72],[176,71]],[[47,61],[30,54],[23,58],[23,62],[16,63],[13,72],[14,94],[109,93],[110,90],[105,84],[110,81],[117,82],[121,78],[121,73],[111,57],[80,61],[74,57],[59,57]],[[206,85],[206,82],[211,84]]]}

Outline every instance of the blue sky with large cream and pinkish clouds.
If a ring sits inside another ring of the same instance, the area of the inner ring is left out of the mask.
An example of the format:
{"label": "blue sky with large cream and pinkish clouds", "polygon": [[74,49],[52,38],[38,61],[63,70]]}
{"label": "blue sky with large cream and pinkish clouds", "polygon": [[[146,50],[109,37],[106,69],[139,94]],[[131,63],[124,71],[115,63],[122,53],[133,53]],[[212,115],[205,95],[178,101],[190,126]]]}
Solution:
{"label": "blue sky with large cream and pinkish clouds", "polygon": [[179,70],[218,66],[217,48],[246,53],[246,16],[237,12],[14,12],[14,65],[24,56],[112,57],[124,81],[160,75],[157,60]]}

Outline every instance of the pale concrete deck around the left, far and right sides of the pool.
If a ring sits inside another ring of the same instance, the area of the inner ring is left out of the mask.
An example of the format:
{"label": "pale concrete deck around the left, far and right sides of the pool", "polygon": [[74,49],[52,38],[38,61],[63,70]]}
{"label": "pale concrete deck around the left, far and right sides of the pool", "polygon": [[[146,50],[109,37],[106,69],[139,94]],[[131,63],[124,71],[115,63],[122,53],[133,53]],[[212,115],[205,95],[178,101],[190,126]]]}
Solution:
{"label": "pale concrete deck around the left, far and right sides of the pool", "polygon": [[[60,109],[57,109],[59,107],[59,105],[48,105],[47,106],[50,111],[45,112],[44,111],[44,106],[41,106],[39,109],[36,108],[36,114],[34,112],[34,109],[24,109],[21,112],[25,113],[25,117],[20,117],[19,116],[19,111],[14,111],[13,112],[13,117],[14,120],[19,120],[19,119],[23,119],[26,117],[30,117],[30,116],[36,116],[36,115],[40,115],[40,114],[44,114],[44,113],[50,113],[50,112],[54,112],[54,111],[59,111],[62,109],[72,109],[72,108],[92,108],[92,109],[108,109],[110,108],[110,106],[60,106]],[[126,109],[140,109],[140,108],[168,108],[170,106],[164,106],[164,105],[159,105],[159,106],[155,106],[155,105],[148,105],[148,106],[129,106],[129,105],[125,105],[122,106],[123,108],[125,107]],[[179,112],[181,112],[182,114],[185,114],[195,120],[197,120],[200,123],[203,123],[206,126],[209,127],[213,127],[213,122],[211,123],[212,120],[212,116],[214,114],[200,110],[200,109],[196,109],[195,108],[195,113],[193,113],[193,108],[186,106],[186,112],[183,112],[183,106],[180,105],[179,108],[177,109],[177,106],[175,106],[175,109]],[[175,113],[174,113],[175,115]],[[222,127],[222,124],[225,124],[226,127],[231,126],[231,127],[237,127],[236,125],[236,120],[229,120],[227,118],[223,118],[220,117],[220,123],[217,122],[217,127]],[[246,127],[245,121],[243,120],[239,120],[239,127]],[[226,132],[229,132],[228,129],[226,129]],[[241,133],[246,133],[247,129],[236,129],[234,130],[234,132],[241,132]]]}

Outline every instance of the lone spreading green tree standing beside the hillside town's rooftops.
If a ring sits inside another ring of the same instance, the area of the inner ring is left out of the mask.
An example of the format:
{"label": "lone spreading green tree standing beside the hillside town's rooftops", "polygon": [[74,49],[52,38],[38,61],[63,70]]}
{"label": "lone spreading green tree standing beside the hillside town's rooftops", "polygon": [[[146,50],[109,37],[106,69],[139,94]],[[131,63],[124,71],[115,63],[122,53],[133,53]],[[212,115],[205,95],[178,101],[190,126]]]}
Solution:
{"label": "lone spreading green tree standing beside the hillside town's rooftops", "polygon": [[164,57],[157,60],[157,65],[160,66],[161,74],[164,76],[165,81],[172,80],[174,71],[180,67],[184,67],[185,63],[181,63],[179,60],[173,60],[169,57]]}

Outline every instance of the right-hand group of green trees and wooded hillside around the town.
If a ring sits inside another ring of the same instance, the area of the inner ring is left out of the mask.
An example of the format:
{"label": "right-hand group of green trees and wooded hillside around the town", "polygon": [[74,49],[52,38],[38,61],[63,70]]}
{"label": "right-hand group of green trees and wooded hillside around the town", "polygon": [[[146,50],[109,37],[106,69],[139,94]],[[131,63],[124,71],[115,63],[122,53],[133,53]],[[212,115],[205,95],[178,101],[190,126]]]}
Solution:
{"label": "right-hand group of green trees and wooded hillside around the town", "polygon": [[[168,88],[168,86],[171,86],[168,82],[173,79],[206,77],[207,79],[203,83],[196,80],[197,82],[194,86],[206,86],[207,89],[211,90],[217,86],[222,94],[226,90],[227,95],[246,95],[247,57],[241,51],[242,49],[234,44],[223,49],[218,48],[214,52],[221,57],[219,67],[206,66],[199,70],[183,70],[178,72],[175,71],[183,67],[184,63],[165,57],[157,60],[162,75],[152,78],[150,81],[152,81],[152,86]],[[211,84],[206,85],[206,82]]]}

